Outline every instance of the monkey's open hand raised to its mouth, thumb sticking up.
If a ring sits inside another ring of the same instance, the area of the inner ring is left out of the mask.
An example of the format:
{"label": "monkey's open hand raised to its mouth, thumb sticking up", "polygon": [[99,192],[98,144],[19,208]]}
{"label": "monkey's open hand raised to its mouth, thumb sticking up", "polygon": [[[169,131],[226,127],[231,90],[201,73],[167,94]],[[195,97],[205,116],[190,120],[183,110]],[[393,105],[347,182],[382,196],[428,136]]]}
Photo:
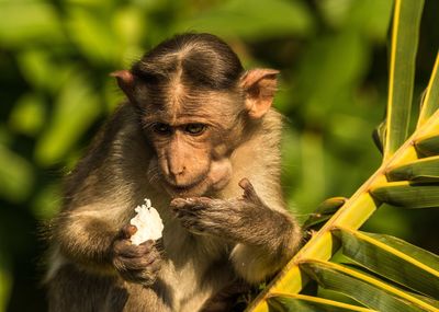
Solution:
{"label": "monkey's open hand raised to its mouth, thumb sticking up", "polygon": [[247,242],[252,240],[250,234],[254,238],[270,229],[267,222],[273,222],[278,213],[262,203],[247,178],[243,178],[239,186],[244,189],[240,198],[176,198],[171,208],[181,224],[192,233]]}

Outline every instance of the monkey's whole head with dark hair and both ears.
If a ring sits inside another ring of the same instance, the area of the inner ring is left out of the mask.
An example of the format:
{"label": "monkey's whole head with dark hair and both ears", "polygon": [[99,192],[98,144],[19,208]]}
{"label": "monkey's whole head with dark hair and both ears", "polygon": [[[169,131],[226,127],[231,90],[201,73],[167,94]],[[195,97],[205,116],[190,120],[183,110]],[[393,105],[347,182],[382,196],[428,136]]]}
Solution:
{"label": "monkey's whole head with dark hair and both ears", "polygon": [[155,151],[153,185],[171,197],[202,196],[227,185],[230,154],[270,109],[277,74],[245,71],[236,54],[210,34],[178,35],[130,71],[114,72]]}

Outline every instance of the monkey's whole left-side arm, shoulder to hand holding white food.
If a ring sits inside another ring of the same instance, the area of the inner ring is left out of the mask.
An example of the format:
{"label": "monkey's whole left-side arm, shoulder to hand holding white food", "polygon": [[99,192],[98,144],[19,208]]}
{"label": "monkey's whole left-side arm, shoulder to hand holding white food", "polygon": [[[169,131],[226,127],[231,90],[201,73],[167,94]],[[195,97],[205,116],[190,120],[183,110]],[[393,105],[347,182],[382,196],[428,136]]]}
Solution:
{"label": "monkey's whole left-side arm, shoulder to hand holding white food", "polygon": [[126,226],[143,198],[149,157],[133,107],[122,105],[67,178],[64,211],[50,231],[64,258],[145,281],[158,253],[151,244],[132,245]]}

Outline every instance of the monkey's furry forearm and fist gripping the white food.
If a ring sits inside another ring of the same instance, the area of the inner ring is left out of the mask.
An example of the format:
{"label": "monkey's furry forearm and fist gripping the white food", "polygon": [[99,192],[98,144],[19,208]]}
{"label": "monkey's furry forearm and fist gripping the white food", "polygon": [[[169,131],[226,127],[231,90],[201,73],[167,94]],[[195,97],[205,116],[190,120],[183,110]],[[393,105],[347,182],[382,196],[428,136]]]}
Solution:
{"label": "monkey's furry forearm and fist gripping the white food", "polygon": [[149,240],[132,244],[130,238],[136,228],[123,226],[122,219],[111,208],[102,211],[97,207],[81,207],[61,213],[55,233],[59,252],[88,270],[117,273],[125,280],[149,286],[161,266],[156,243]]}

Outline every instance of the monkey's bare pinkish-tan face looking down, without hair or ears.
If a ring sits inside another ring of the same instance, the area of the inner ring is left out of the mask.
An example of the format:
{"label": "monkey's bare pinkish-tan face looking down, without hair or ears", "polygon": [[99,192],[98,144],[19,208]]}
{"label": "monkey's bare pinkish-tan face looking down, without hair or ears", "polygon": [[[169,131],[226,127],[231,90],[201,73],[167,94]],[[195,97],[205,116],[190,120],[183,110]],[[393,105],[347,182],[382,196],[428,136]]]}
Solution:
{"label": "monkey's bare pinkish-tan face looking down, without hair or ears", "polygon": [[224,109],[233,99],[204,94],[184,100],[149,104],[143,116],[146,137],[155,150],[149,180],[171,197],[202,196],[227,185],[230,141],[239,130],[236,108]]}

